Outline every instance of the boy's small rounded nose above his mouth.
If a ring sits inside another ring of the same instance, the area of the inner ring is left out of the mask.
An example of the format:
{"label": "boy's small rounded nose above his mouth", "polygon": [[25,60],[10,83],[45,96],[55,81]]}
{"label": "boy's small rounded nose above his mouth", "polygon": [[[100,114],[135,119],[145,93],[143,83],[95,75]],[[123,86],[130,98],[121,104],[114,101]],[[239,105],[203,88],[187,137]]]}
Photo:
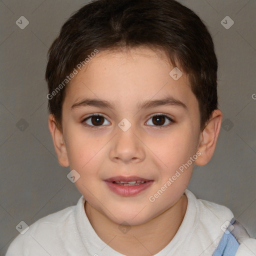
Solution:
{"label": "boy's small rounded nose above his mouth", "polygon": [[123,131],[116,127],[117,134],[114,136],[109,157],[112,161],[123,163],[136,163],[143,161],[145,158],[145,146],[141,142],[141,138],[133,129],[133,126]]}

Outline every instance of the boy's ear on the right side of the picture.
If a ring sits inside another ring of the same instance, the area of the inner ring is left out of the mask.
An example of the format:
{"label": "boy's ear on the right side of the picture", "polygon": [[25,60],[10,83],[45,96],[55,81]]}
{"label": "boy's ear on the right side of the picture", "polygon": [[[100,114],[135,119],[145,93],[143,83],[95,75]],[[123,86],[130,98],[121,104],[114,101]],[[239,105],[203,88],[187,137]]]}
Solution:
{"label": "boy's ear on the right side of the picture", "polygon": [[201,154],[194,161],[195,164],[204,165],[211,159],[220,131],[221,120],[222,112],[219,109],[213,110],[211,113],[211,118],[207,122],[203,131],[200,133],[197,150],[200,151]]}

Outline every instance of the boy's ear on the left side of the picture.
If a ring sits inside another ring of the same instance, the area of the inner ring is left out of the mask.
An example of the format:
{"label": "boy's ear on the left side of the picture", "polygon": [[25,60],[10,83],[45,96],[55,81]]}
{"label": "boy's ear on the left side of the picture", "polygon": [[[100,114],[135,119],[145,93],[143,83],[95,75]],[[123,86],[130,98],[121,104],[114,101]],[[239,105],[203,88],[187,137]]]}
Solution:
{"label": "boy's ear on the left side of the picture", "polygon": [[60,165],[67,167],[69,165],[69,162],[67,158],[66,145],[64,143],[63,134],[62,131],[58,129],[56,121],[52,114],[49,114],[48,126],[53,140],[54,148],[58,157],[58,162]]}

